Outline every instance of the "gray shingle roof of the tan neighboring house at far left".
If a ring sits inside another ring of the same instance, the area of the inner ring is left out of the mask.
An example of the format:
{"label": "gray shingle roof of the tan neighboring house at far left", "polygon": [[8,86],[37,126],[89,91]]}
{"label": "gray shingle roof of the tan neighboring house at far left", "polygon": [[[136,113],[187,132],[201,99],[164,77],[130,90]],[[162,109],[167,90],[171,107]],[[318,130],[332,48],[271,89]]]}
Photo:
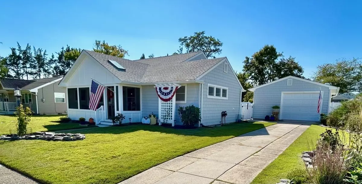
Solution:
{"label": "gray shingle roof of the tan neighboring house at far left", "polygon": [[1,84],[3,84],[4,88],[18,87],[21,90],[30,90],[59,78],[60,77],[53,77],[53,78],[43,78],[43,79],[33,79],[33,80],[4,78],[1,79],[0,81]]}

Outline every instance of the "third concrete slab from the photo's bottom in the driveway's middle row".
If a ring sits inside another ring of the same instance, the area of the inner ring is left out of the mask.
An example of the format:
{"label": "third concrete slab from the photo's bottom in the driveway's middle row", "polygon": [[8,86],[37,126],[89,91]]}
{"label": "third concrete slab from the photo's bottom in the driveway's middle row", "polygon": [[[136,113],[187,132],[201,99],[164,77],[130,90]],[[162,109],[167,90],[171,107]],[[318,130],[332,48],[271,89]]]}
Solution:
{"label": "third concrete slab from the photo's bottom in the driveway's middle row", "polygon": [[207,156],[206,159],[238,164],[260,149],[258,147],[232,145],[225,150]]}

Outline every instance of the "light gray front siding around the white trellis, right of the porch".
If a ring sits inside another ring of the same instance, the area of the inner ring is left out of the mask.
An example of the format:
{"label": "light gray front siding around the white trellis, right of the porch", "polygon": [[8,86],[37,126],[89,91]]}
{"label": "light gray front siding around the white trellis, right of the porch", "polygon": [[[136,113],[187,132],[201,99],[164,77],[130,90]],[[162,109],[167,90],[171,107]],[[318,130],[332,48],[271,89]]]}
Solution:
{"label": "light gray front siding around the white trellis, right of the porch", "polygon": [[[199,84],[191,83],[191,84],[181,84],[187,85],[186,88],[186,104],[176,103],[175,108],[175,120],[176,125],[182,125],[180,117],[178,116],[177,109],[180,106],[189,106],[195,105],[198,107],[198,96],[199,96]],[[142,116],[148,116],[148,114],[152,113],[158,116],[158,108],[159,108],[159,98],[156,94],[154,85],[143,85],[142,86]]]}

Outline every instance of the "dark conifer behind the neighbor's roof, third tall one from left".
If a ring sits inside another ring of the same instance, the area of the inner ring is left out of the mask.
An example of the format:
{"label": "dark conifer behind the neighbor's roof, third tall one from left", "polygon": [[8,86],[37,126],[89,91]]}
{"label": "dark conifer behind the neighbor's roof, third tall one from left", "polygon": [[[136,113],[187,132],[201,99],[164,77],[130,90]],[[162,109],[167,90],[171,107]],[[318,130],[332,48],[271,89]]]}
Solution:
{"label": "dark conifer behind the neighbor's roof, third tall one from left", "polygon": [[48,72],[44,70],[47,64],[48,54],[46,53],[46,50],[43,51],[41,48],[35,49],[35,47],[33,47],[33,49],[34,59],[33,62],[30,63],[31,76],[33,79],[40,79],[45,72]]}

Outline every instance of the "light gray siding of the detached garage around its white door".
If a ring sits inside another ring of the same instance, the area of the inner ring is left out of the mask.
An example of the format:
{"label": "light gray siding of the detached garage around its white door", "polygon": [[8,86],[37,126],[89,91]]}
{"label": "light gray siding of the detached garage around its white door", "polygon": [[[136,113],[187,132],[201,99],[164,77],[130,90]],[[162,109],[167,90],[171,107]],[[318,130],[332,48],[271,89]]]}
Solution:
{"label": "light gray siding of the detached garage around its white door", "polygon": [[327,87],[308,83],[305,81],[293,79],[292,85],[287,85],[287,79],[266,85],[261,88],[255,89],[254,92],[254,107],[253,107],[253,118],[264,119],[266,115],[271,114],[271,106],[281,106],[281,95],[282,92],[289,91],[323,91],[323,104],[321,113],[327,113],[328,111],[328,97],[330,97],[329,89]]}

